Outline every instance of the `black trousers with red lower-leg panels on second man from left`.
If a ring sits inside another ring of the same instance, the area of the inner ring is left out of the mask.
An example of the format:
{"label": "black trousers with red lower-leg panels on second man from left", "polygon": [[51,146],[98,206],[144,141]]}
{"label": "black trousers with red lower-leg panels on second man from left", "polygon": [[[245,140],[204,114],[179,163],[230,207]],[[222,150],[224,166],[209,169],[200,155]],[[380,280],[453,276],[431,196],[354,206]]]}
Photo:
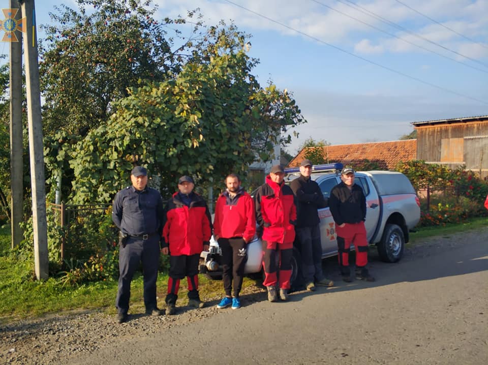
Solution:
{"label": "black trousers with red lower-leg panels on second man from left", "polygon": [[166,304],[174,305],[178,298],[179,282],[187,277],[188,298],[200,300],[198,294],[198,263],[200,254],[169,257],[169,279]]}

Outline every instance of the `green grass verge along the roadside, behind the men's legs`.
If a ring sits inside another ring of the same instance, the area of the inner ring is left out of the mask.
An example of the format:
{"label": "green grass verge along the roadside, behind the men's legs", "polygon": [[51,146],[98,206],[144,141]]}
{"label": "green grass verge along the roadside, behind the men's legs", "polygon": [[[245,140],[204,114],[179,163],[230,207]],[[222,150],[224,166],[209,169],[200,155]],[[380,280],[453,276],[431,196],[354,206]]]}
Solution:
{"label": "green grass verge along the roadside, behind the men's legs", "polygon": [[[462,224],[449,224],[442,227],[422,227],[411,233],[412,244],[421,244],[422,239],[459,233],[466,230],[488,227],[488,218],[474,218]],[[40,316],[73,310],[101,309],[114,314],[114,301],[117,293],[116,281],[87,283],[81,286],[63,286],[55,279],[33,280],[32,262],[19,262],[9,255],[10,228],[0,228],[0,321]],[[160,275],[157,283],[159,306],[163,307],[167,289],[167,275]],[[181,281],[177,305],[188,302],[186,280]],[[259,284],[256,280],[245,278],[243,290],[253,289]],[[142,276],[136,275],[132,282],[131,311],[143,312]],[[223,295],[222,281],[209,280],[200,275],[200,296],[204,301],[218,300]]]}

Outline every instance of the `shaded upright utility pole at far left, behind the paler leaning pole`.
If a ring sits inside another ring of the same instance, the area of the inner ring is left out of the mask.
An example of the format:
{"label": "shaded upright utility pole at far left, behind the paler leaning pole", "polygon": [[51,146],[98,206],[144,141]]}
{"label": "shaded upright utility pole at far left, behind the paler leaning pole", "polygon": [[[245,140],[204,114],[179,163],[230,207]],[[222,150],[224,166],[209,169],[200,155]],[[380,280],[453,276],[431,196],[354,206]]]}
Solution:
{"label": "shaded upright utility pole at far left, behind the paler leaning pole", "polygon": [[[18,9],[14,16],[20,21],[20,6],[10,0],[10,9]],[[25,32],[25,29],[22,29]],[[23,221],[23,141],[22,141],[22,33],[10,42],[10,188],[12,248],[22,241]],[[17,42],[15,42],[15,40]]]}

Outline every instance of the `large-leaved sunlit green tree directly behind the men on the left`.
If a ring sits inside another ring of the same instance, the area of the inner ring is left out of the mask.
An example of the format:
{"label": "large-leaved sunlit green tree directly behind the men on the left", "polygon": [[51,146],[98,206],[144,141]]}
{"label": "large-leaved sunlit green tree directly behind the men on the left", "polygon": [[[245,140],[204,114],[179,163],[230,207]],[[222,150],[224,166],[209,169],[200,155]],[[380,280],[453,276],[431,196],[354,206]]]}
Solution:
{"label": "large-leaved sunlit green tree directly behind the men on the left", "polygon": [[207,37],[208,59],[195,57],[174,79],[132,89],[106,125],[70,150],[76,202],[109,201],[133,164],[159,176],[163,194],[181,174],[203,186],[221,181],[269,159],[280,133],[304,122],[286,91],[263,88],[251,74],[257,60],[247,55],[245,35],[231,25],[212,27]]}

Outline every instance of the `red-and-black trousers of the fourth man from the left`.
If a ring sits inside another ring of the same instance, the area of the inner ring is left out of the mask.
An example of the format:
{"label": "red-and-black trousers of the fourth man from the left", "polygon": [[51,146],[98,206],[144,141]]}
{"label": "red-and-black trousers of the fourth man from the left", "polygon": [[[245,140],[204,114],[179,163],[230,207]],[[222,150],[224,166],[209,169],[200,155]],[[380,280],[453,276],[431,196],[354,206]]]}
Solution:
{"label": "red-and-black trousers of the fourth man from the left", "polygon": [[[264,286],[273,286],[278,283],[282,289],[290,289],[291,258],[293,257],[293,242],[279,243],[263,240],[263,267]],[[279,262],[277,262],[279,261]],[[280,277],[278,278],[278,265]]]}

